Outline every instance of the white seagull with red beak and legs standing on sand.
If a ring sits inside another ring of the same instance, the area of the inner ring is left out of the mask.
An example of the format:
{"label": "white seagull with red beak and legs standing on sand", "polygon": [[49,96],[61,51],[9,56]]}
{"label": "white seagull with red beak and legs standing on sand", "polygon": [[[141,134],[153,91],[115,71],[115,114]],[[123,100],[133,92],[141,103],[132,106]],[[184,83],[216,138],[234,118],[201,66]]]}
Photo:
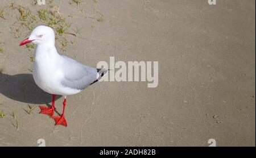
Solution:
{"label": "white seagull with red beak and legs standing on sand", "polygon": [[[52,94],[51,107],[39,106],[40,113],[53,118],[55,125],[67,127],[68,124],[64,117],[67,96],[77,94],[94,84],[108,70],[92,68],[67,56],[59,55],[55,48],[55,33],[51,27],[38,26],[34,28],[30,36],[24,39],[19,46],[28,43],[36,44],[33,65],[35,83],[45,92]],[[64,97],[63,113],[60,116],[53,116],[56,95]]]}

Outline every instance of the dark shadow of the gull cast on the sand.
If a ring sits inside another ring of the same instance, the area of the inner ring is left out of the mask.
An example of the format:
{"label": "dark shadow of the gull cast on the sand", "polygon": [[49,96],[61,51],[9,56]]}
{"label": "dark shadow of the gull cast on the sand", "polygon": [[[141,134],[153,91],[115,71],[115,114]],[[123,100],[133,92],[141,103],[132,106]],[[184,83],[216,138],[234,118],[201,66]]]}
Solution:
{"label": "dark shadow of the gull cast on the sand", "polygon": [[[15,101],[45,104],[47,106],[52,101],[52,95],[40,89],[34,81],[32,74],[9,74],[0,73],[0,93]],[[56,95],[56,99],[61,96]]]}

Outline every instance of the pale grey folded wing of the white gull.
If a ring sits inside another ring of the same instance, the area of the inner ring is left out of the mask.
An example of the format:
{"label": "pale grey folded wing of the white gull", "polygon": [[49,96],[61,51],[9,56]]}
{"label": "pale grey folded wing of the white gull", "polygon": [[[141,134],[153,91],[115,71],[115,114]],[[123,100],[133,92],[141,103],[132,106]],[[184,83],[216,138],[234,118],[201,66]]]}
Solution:
{"label": "pale grey folded wing of the white gull", "polygon": [[85,89],[87,86],[97,80],[97,69],[82,65],[79,62],[63,56],[61,67],[64,78],[61,84],[72,89]]}

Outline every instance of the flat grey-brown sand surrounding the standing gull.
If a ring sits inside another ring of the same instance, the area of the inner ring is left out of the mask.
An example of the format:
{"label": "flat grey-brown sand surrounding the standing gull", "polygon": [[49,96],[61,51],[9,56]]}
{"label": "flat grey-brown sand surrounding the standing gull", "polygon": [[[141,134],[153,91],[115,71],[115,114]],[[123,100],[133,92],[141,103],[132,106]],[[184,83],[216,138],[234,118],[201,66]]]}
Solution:
{"label": "flat grey-brown sand surrounding the standing gull", "polygon": [[[75,40],[64,52],[57,43],[60,54],[94,67],[110,56],[159,63],[156,88],[98,82],[68,96],[68,127],[38,114],[51,95],[34,83],[33,50],[19,47],[25,35],[11,34],[19,15],[11,2],[0,2],[0,110],[6,114],[0,146],[38,146],[38,139],[46,146],[208,146],[209,139],[217,146],[255,146],[254,0],[88,0],[79,7],[54,0],[72,23],[67,31],[81,28],[76,37],[64,35]],[[46,3],[15,1],[32,11],[49,9]],[[62,102],[57,97],[58,113]],[[31,114],[28,104],[36,106]]]}

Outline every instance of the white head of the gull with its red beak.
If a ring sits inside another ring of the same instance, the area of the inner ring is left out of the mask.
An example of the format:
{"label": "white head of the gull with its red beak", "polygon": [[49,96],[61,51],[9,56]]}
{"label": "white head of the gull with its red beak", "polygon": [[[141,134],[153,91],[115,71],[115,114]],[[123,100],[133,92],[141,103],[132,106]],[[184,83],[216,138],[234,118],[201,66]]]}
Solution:
{"label": "white head of the gull with its red beak", "polygon": [[48,26],[38,26],[34,28],[31,32],[29,38],[24,39],[19,46],[28,44],[55,44],[55,34],[51,27]]}

